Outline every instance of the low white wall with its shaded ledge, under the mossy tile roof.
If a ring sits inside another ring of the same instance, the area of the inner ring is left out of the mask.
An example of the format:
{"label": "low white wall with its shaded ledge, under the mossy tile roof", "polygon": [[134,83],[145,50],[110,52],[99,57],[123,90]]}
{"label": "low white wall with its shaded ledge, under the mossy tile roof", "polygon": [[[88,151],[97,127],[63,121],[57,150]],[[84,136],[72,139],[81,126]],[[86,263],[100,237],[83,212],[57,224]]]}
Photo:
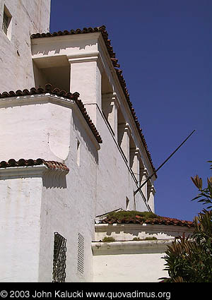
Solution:
{"label": "low white wall with its shaded ledge, under the mossy tile roof", "polygon": [[93,243],[94,282],[159,282],[168,277],[165,248],[169,240]]}

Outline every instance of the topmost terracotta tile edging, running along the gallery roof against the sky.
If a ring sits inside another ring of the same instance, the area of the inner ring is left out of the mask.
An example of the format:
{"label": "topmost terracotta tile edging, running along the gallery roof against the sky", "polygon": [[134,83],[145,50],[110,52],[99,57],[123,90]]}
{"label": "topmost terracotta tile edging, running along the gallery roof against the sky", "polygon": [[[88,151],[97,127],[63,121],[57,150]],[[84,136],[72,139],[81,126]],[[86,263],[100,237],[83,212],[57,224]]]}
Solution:
{"label": "topmost terracotta tile edging, running along the gallery roof against the sky", "polygon": [[[143,133],[142,133],[142,129],[140,128],[140,124],[139,124],[138,118],[136,116],[136,112],[135,112],[134,108],[132,107],[132,103],[131,103],[130,98],[129,98],[129,92],[126,88],[126,82],[124,80],[124,76],[122,75],[122,70],[118,69],[120,67],[120,65],[118,64],[118,59],[115,57],[116,54],[113,51],[113,48],[112,48],[112,45],[111,45],[111,40],[108,39],[108,33],[107,33],[106,28],[105,28],[105,25],[102,25],[100,27],[95,27],[95,28],[83,28],[83,30],[76,29],[76,30],[70,30],[70,31],[69,30],[64,30],[63,32],[59,31],[59,32],[53,32],[53,33],[50,33],[50,32],[36,33],[34,35],[31,35],[31,38],[36,39],[36,38],[40,38],[40,37],[57,37],[57,36],[61,36],[61,35],[76,35],[76,34],[90,33],[90,32],[100,32],[102,34],[103,40],[105,42],[105,46],[107,47],[107,51],[110,54],[110,59],[112,61],[114,69],[117,73],[117,77],[119,78],[119,83],[122,86],[122,90],[123,90],[124,95],[126,97],[126,101],[129,105],[129,109],[130,109],[131,114],[134,118],[136,128],[139,131],[141,141],[142,141],[143,146],[146,150],[146,155],[148,156],[148,159],[151,162],[151,167],[153,168],[153,172],[155,172],[155,167],[153,165],[153,160],[151,158],[151,154],[148,150],[146,140],[145,140],[145,138],[143,136]],[[155,174],[155,177],[157,178],[157,174]]]}

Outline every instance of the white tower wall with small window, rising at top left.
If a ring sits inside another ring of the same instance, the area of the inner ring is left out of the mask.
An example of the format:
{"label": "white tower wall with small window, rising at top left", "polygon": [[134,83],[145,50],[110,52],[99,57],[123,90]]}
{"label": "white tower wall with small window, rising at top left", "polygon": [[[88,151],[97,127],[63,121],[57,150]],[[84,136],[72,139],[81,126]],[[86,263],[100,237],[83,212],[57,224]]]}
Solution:
{"label": "white tower wall with small window, rising at top left", "polygon": [[[0,0],[0,92],[35,85],[30,35],[49,31],[50,0]],[[11,13],[11,40],[2,30],[4,5]]]}

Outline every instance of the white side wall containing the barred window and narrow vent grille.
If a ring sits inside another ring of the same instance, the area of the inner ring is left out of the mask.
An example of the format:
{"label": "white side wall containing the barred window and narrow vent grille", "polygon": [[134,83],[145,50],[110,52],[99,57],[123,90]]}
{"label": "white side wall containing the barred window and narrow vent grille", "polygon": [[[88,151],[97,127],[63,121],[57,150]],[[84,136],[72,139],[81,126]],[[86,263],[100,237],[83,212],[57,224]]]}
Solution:
{"label": "white side wall containing the barred window and narrow vent grille", "polygon": [[[96,160],[98,153],[77,118],[71,119],[69,156],[65,160],[69,174],[61,187],[44,180],[42,188],[40,282],[52,280],[54,232],[64,236],[67,248],[66,282],[92,282],[96,202]],[[80,143],[80,164],[77,143]],[[84,271],[78,272],[78,234],[84,237]],[[47,250],[48,249],[48,250]]]}

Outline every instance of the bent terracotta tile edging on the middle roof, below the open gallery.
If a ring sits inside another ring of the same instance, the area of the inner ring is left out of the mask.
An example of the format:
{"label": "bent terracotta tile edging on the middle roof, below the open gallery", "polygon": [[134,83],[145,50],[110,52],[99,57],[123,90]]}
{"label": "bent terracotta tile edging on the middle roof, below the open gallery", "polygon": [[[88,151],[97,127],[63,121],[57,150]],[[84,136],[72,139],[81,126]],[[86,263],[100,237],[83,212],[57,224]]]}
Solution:
{"label": "bent terracotta tile edging on the middle roof, below the open gallery", "polygon": [[86,122],[90,127],[90,130],[93,132],[93,135],[95,136],[96,140],[98,141],[98,143],[102,143],[102,138],[98,133],[98,130],[95,128],[95,125],[93,124],[92,120],[90,119],[90,116],[88,116],[88,113],[86,111],[86,108],[83,105],[83,102],[81,102],[81,100],[78,100],[79,97],[78,92],[74,92],[72,94],[71,92],[60,90],[59,88],[53,89],[52,85],[47,83],[45,85],[45,88],[37,88],[37,89],[30,88],[30,90],[24,89],[24,90],[16,90],[16,92],[14,92],[13,90],[11,90],[10,92],[2,92],[0,93],[0,98],[19,97],[19,96],[37,95],[37,94],[46,94],[46,93],[57,95],[59,97],[65,97],[67,99],[75,101],[78,108],[81,110],[81,113],[83,114],[84,118],[86,119]]}

